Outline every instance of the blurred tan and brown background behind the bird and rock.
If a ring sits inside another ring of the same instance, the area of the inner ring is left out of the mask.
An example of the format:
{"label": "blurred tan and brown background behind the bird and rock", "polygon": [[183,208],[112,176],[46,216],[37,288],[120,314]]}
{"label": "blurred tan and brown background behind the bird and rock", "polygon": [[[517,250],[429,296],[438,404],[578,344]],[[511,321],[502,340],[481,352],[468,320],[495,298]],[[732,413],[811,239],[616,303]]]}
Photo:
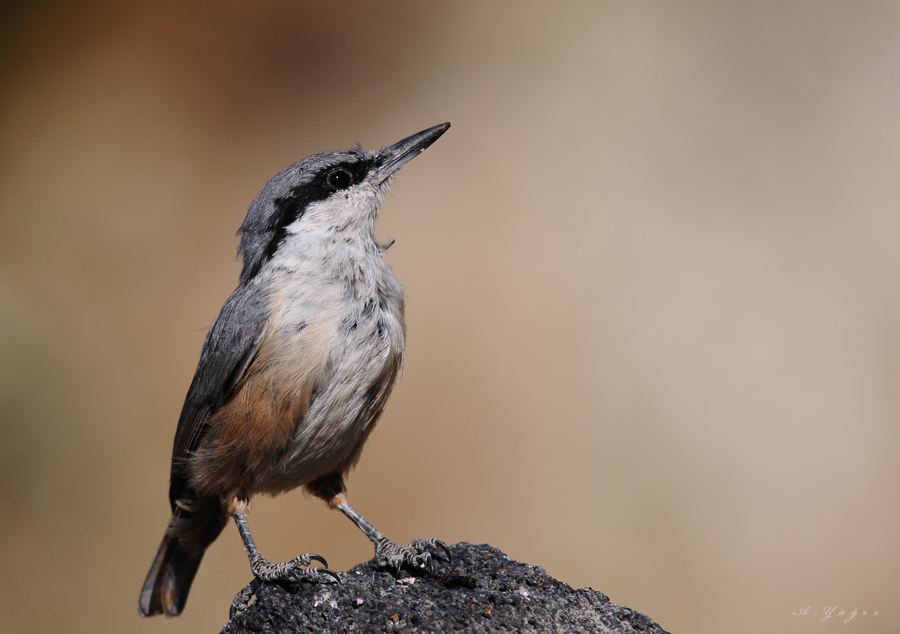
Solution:
{"label": "blurred tan and brown background behind the bird and rock", "polygon": [[[235,231],[284,166],[442,121],[379,221],[408,358],[351,501],[672,632],[900,628],[896,3],[20,4],[0,630],[225,623],[232,526],[181,618],[137,597]],[[251,526],[272,559],[372,552],[299,492]]]}

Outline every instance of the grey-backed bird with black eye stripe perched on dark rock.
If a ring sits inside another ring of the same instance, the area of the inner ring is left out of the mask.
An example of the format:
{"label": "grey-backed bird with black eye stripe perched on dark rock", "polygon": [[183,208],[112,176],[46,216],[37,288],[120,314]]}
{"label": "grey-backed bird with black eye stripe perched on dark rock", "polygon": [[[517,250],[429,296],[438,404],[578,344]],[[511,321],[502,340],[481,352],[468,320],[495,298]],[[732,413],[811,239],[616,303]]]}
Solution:
{"label": "grey-backed bird with black eye stripe perched on dark rock", "polygon": [[449,558],[433,538],[389,540],[350,506],[344,483],[403,368],[404,287],[383,258],[393,241],[376,241],[375,219],[397,170],[449,127],[380,151],[357,144],[314,154],[250,205],[238,230],[237,288],[207,332],[178,420],[172,517],[141,589],[142,616],[181,614],[229,518],[254,575],[232,613],[263,581],[338,580],[319,555],[273,563],[260,554],[247,522],[255,494],[303,487],[349,517],[385,567]]}

